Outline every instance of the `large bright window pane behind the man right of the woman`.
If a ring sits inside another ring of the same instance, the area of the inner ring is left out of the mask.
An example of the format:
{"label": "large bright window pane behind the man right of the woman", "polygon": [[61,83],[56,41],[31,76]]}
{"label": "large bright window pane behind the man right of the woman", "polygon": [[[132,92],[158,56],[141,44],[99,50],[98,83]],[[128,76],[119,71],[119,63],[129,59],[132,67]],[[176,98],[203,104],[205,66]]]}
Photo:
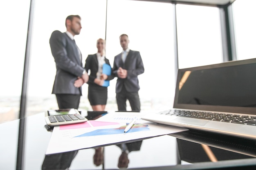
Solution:
{"label": "large bright window pane behind the man right of the woman", "polygon": [[[122,51],[119,36],[123,33],[129,36],[129,48],[141,54],[145,68],[139,75],[141,110],[172,107],[175,86],[172,4],[108,0],[107,11],[106,56],[110,64]],[[116,79],[110,81],[109,100],[115,100],[115,83]]]}

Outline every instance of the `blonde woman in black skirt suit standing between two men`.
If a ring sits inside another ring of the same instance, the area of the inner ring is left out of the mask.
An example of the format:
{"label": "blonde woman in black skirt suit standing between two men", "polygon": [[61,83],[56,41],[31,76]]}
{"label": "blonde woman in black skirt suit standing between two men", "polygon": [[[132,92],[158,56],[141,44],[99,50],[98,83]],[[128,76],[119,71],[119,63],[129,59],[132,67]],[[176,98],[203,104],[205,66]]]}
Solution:
{"label": "blonde woman in black skirt suit standing between two men", "polygon": [[106,74],[102,74],[103,64],[109,64],[105,57],[105,40],[97,40],[96,54],[88,55],[85,60],[85,70],[90,70],[88,83],[88,99],[93,111],[104,111],[108,98],[108,87],[102,86],[104,80],[108,79]]}

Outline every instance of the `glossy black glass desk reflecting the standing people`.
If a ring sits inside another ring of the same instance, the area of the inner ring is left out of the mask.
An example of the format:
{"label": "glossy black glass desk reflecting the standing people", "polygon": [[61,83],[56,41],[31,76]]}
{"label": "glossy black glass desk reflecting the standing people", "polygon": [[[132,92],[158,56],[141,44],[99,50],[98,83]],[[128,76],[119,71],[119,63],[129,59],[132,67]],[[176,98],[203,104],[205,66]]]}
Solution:
{"label": "glossy black glass desk reflecting the standing people", "polygon": [[44,116],[0,124],[1,170],[256,169],[255,141],[191,130],[48,156],[51,132],[45,128]]}

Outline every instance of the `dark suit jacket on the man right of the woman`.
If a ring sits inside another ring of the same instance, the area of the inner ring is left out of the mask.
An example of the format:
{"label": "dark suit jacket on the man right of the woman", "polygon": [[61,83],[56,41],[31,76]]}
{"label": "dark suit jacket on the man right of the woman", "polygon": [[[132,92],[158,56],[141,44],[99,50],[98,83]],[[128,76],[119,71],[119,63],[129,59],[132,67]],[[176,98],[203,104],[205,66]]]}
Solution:
{"label": "dark suit jacket on the man right of the woman", "polygon": [[117,78],[116,93],[121,92],[123,86],[125,86],[128,92],[138,92],[138,75],[144,73],[144,65],[139,51],[130,50],[124,63],[121,59],[121,53],[115,56],[112,70],[112,75],[115,77],[117,77],[119,67],[127,70],[127,77],[125,79]]}

